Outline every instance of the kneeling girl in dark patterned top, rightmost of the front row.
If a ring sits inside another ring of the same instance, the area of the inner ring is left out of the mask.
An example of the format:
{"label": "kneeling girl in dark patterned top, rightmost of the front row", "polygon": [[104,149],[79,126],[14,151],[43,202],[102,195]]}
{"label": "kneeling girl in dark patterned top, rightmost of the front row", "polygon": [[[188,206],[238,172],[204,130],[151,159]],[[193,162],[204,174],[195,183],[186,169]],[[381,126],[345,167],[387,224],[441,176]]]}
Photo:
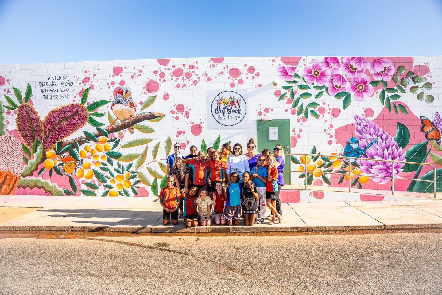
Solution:
{"label": "kneeling girl in dark patterned top, rightmost of the front row", "polygon": [[244,223],[246,226],[255,224],[255,216],[259,210],[259,195],[255,185],[249,188],[247,183],[250,178],[249,172],[243,173],[243,184],[241,187],[241,208],[244,213]]}

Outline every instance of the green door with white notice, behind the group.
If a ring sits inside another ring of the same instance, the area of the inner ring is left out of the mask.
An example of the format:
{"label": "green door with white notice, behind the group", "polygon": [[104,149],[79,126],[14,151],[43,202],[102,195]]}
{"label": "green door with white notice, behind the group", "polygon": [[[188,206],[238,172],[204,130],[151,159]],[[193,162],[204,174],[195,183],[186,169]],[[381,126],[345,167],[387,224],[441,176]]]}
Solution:
{"label": "green door with white notice, behind the group", "polygon": [[[273,153],[274,146],[280,144],[285,154],[290,153],[290,119],[256,120],[256,134],[258,152],[270,149]],[[290,157],[284,161],[284,170],[290,171]],[[290,172],[284,172],[284,182],[290,184]]]}

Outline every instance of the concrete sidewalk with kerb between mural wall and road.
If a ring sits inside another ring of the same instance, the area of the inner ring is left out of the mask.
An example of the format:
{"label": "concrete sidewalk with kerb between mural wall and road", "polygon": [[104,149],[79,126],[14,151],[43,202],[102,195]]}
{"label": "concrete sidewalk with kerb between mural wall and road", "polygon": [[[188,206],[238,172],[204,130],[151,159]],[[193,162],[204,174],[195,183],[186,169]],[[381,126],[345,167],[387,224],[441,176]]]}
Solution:
{"label": "concrete sidewalk with kerb between mural wall and road", "polygon": [[[442,228],[442,200],[283,203],[282,225],[164,226],[159,203],[145,198],[1,196],[0,230],[147,233],[248,233]],[[269,210],[267,210],[269,212]]]}

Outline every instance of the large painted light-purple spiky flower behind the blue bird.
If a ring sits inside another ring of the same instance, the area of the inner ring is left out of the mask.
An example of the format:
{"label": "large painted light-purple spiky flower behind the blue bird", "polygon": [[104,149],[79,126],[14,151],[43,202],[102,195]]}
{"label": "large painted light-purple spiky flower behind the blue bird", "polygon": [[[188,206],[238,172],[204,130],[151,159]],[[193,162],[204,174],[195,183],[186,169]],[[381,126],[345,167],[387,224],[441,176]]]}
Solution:
{"label": "large painted light-purple spiky flower behind the blue bird", "polygon": [[366,172],[373,181],[386,184],[390,179],[383,177],[391,177],[393,170],[394,175],[397,176],[403,171],[404,163],[392,163],[382,160],[404,161],[405,153],[402,152],[402,148],[399,147],[395,139],[377,124],[360,115],[354,115],[354,121],[356,137],[362,149],[365,149],[373,140],[377,139],[377,143],[367,149],[366,153],[367,158],[378,161],[358,160],[360,169]]}

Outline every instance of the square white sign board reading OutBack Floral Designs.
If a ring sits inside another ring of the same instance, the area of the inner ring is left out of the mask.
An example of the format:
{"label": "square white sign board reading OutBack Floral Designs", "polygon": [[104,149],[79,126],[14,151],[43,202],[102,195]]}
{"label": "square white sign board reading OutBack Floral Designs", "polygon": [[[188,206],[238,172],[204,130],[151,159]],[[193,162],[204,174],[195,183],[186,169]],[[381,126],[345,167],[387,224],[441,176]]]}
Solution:
{"label": "square white sign board reading OutBack Floral Designs", "polygon": [[248,128],[247,90],[208,91],[209,129]]}

